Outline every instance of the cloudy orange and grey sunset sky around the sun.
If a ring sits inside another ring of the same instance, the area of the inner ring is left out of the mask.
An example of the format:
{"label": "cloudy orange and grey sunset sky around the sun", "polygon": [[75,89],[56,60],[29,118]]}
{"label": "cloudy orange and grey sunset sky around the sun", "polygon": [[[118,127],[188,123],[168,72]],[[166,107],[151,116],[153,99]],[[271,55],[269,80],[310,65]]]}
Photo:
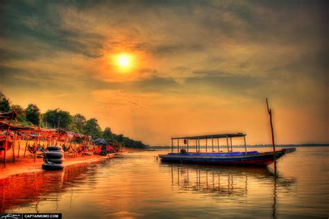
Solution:
{"label": "cloudy orange and grey sunset sky around the sun", "polygon": [[276,143],[328,143],[327,15],[326,1],[1,1],[0,90],[152,146],[271,143],[267,97]]}

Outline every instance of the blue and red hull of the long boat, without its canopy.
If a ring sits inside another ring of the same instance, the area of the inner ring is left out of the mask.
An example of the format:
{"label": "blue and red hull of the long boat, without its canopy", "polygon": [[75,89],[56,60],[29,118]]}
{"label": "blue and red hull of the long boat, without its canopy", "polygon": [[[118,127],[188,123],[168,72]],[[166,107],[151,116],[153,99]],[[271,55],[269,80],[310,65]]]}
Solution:
{"label": "blue and red hull of the long boat, without its canopy", "polygon": [[[283,155],[294,152],[296,148],[285,148],[276,151],[276,159]],[[182,153],[169,153],[168,155],[159,155],[162,162],[174,163],[187,163],[187,164],[212,164],[212,165],[225,165],[225,166],[267,166],[274,161],[274,152],[262,152],[241,155],[235,153],[225,153],[224,155],[203,155],[199,154],[182,154]]]}

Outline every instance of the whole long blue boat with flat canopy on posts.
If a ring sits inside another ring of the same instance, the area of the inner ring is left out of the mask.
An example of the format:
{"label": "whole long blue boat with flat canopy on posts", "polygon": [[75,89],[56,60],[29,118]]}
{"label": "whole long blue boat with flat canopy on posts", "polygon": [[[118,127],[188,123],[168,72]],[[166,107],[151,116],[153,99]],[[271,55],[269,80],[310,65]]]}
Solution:
{"label": "whole long blue boat with flat canopy on posts", "polygon": [[[244,151],[233,152],[232,139],[236,137],[244,138]],[[219,139],[226,139],[227,152],[223,152],[219,146]],[[230,144],[228,139],[230,139]],[[177,140],[177,152],[174,152],[174,140]],[[185,148],[179,146],[180,141],[184,141]],[[196,141],[196,151],[189,152],[189,141]],[[201,152],[200,140],[205,140],[205,152]],[[208,140],[211,141],[211,151],[208,152]],[[217,150],[214,148],[214,141],[217,140]],[[285,154],[294,152],[296,148],[283,148],[269,152],[247,151],[246,134],[211,134],[193,137],[171,138],[171,152],[167,155],[159,155],[163,162],[189,163],[189,164],[216,164],[226,166],[267,166]]]}

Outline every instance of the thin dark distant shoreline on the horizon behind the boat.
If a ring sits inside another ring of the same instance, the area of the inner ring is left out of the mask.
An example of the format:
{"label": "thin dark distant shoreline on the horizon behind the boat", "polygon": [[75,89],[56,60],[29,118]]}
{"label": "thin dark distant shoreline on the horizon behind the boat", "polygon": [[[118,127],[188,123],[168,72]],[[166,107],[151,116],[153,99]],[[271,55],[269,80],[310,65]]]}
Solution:
{"label": "thin dark distant shoreline on the horizon behind the boat", "polygon": [[[282,148],[282,147],[319,147],[319,146],[329,146],[329,143],[304,143],[304,144],[278,144],[276,147]],[[180,148],[187,148],[186,145],[179,146]],[[205,148],[205,146],[200,146],[201,148]],[[217,148],[218,146],[214,146],[214,148]],[[220,148],[227,148],[226,145],[219,146]],[[264,144],[264,145],[247,145],[247,148],[272,148],[273,146],[271,144]],[[149,149],[167,149],[171,148],[171,146],[149,146]],[[177,148],[177,146],[174,146],[174,148]],[[196,146],[189,146],[189,148],[196,148]],[[212,146],[208,146],[208,148],[212,148]],[[244,145],[238,145],[233,146],[233,148],[244,148]]]}

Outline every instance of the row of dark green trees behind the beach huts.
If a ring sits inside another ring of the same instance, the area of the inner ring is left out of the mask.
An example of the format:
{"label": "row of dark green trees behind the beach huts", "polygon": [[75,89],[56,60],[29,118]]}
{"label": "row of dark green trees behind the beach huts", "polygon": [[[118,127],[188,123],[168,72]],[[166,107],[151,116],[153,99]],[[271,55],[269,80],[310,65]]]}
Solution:
{"label": "row of dark green trees behind the beach huts", "polygon": [[108,142],[122,143],[127,148],[147,148],[142,141],[135,141],[123,134],[112,133],[110,127],[101,130],[97,119],[86,119],[82,114],[71,115],[60,108],[48,109],[42,113],[37,105],[30,103],[25,109],[20,105],[10,104],[10,100],[0,92],[0,112],[16,110],[17,122],[22,125],[35,125],[42,128],[62,128],[91,136],[92,139],[103,138]]}

